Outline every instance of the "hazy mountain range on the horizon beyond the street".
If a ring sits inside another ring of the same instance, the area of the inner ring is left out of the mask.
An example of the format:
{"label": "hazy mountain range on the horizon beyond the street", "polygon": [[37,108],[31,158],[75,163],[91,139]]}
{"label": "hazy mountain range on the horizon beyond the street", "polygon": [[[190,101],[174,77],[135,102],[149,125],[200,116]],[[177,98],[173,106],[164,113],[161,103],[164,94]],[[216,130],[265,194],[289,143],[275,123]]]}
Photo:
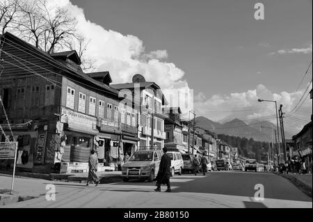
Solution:
{"label": "hazy mountain range on the horizon beyond the street", "polygon": [[[214,122],[200,116],[195,118],[197,130],[202,133],[204,129],[207,129],[216,134],[225,134],[230,136],[239,136],[246,138],[253,138],[255,141],[268,141],[271,142],[272,129],[277,129],[276,125],[268,121],[253,120],[250,122],[244,122],[239,118],[225,123]],[[201,129],[202,128],[202,129]],[[285,130],[285,138],[291,138],[293,134]],[[275,135],[273,134],[273,141],[275,143]],[[281,135],[280,135],[280,141]]]}

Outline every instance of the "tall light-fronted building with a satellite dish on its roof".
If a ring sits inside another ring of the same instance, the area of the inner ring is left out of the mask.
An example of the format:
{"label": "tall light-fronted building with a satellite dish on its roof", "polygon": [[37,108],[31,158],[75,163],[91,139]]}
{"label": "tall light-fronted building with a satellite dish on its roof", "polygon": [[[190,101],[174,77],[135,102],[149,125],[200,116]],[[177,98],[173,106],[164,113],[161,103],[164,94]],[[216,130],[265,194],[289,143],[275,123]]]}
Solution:
{"label": "tall light-fronted building with a satellite dish on its roof", "polygon": [[[168,116],[163,111],[163,106],[168,102],[161,88],[154,82],[145,81],[144,77],[136,74],[133,81],[127,84],[114,84],[113,88],[126,94],[139,107],[138,115],[138,146],[147,148],[157,146],[163,148],[166,133],[164,131],[164,120]],[[152,122],[153,118],[153,122]],[[152,127],[153,125],[153,127]],[[153,144],[152,144],[153,140]]]}

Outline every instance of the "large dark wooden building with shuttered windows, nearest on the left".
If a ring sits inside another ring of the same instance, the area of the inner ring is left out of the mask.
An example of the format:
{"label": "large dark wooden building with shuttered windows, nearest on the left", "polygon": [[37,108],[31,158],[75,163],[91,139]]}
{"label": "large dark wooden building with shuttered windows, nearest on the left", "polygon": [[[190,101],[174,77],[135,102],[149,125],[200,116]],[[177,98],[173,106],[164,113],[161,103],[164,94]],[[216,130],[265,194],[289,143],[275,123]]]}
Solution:
{"label": "large dark wooden building with shuttered windows, nearest on the left", "polygon": [[64,173],[86,172],[91,149],[108,165],[137,143],[136,107],[120,107],[109,72],[84,73],[76,51],[47,54],[10,33],[3,39],[0,95],[9,124],[3,112],[0,124],[18,141],[17,168],[49,173],[61,163]]}

